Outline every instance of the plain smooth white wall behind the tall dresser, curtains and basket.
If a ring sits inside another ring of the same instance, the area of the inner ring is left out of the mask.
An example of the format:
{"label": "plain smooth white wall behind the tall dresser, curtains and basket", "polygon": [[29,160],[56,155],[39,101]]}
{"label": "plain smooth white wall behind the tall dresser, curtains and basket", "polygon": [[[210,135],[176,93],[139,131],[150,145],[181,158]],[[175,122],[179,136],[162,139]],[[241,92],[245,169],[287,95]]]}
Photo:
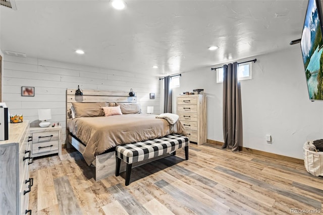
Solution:
{"label": "plain smooth white wall behind the tall dresser, curtains and basket", "polygon": [[[253,78],[241,81],[243,147],[302,159],[303,143],[323,138],[323,101],[308,98],[300,47],[255,58]],[[182,73],[181,87],[174,89],[175,95],[204,89],[207,139],[217,141],[223,141],[222,87],[207,67]],[[175,113],[176,105],[173,109]],[[272,135],[272,144],[266,142],[266,134]]]}

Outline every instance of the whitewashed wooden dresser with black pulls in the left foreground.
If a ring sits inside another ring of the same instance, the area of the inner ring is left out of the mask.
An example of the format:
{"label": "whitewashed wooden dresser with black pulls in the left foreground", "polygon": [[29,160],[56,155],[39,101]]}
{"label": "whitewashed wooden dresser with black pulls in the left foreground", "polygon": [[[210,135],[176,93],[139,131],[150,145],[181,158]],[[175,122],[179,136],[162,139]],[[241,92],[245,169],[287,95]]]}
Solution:
{"label": "whitewashed wooden dresser with black pulls in the left foreground", "polygon": [[9,139],[0,141],[0,213],[31,214],[28,208],[33,179],[29,121],[9,124]]}

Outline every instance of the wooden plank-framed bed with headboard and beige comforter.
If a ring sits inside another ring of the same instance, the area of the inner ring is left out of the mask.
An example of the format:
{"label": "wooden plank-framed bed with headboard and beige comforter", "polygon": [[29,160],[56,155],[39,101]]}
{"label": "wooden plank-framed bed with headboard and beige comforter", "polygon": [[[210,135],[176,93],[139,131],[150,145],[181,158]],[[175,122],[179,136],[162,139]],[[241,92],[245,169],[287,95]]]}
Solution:
{"label": "wooden plank-framed bed with headboard and beige comforter", "polygon": [[[186,134],[180,121],[172,125],[165,119],[156,119],[154,115],[148,114],[105,117],[100,116],[101,113],[91,112],[88,115],[79,114],[74,119],[70,118],[72,104],[73,108],[87,104],[91,106],[119,104],[120,107],[125,103],[136,102],[137,98],[129,96],[128,92],[83,90],[83,95],[75,95],[74,89],[67,89],[67,144],[68,147],[72,145],[80,151],[88,165],[95,167],[96,181],[115,174],[116,145],[160,138],[174,133]],[[86,113],[80,110],[79,113]],[[139,163],[138,166],[143,163]],[[121,171],[125,168],[122,166]]]}

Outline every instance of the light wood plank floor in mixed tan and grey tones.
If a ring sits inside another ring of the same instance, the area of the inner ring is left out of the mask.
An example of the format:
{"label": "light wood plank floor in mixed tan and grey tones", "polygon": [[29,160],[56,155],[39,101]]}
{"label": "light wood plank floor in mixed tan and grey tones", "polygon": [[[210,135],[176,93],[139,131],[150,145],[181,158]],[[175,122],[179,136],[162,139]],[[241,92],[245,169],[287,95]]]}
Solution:
{"label": "light wood plank floor in mixed tan and grey tones", "polygon": [[35,159],[33,214],[289,214],[322,211],[323,178],[303,165],[213,144],[95,182],[77,151]]}

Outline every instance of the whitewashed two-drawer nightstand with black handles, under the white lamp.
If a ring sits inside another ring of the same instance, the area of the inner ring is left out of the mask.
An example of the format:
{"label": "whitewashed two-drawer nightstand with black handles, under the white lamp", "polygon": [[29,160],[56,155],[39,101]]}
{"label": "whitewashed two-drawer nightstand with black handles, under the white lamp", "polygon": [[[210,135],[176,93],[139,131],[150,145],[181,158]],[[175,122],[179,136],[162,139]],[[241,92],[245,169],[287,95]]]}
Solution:
{"label": "whitewashed two-drawer nightstand with black handles, under the white lamp", "polygon": [[32,157],[62,154],[62,126],[31,127],[29,133],[32,136]]}

